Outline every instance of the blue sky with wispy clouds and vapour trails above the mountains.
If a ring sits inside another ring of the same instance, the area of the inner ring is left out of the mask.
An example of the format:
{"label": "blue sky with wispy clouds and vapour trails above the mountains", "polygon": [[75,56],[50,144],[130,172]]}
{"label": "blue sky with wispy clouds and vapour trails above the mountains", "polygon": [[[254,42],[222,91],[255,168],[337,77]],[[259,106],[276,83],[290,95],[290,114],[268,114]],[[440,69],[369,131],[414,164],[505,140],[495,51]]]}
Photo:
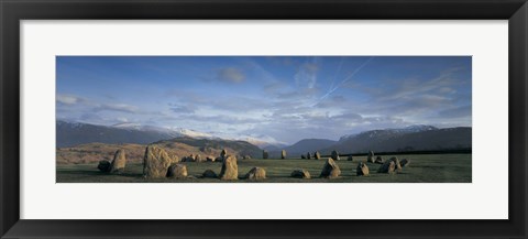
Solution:
{"label": "blue sky with wispy clouds and vapour trails above the mountains", "polygon": [[471,127],[471,56],[57,56],[57,120],[268,142]]}

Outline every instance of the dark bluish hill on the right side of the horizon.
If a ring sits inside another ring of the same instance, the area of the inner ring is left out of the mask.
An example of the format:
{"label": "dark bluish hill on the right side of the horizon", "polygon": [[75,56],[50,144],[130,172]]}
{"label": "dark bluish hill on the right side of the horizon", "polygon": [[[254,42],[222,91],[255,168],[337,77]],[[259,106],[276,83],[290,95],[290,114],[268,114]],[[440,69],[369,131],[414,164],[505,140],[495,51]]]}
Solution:
{"label": "dark bluish hill on the right side of the horizon", "polygon": [[372,130],[355,135],[342,137],[339,142],[321,151],[340,153],[425,151],[471,149],[471,127],[424,128],[421,130]]}

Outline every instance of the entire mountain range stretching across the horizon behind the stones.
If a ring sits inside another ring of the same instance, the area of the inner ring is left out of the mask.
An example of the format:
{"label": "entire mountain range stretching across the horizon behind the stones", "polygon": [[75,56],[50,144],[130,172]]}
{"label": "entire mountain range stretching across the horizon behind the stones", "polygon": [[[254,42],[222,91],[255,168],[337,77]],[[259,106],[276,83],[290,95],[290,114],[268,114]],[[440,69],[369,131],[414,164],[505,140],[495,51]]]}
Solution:
{"label": "entire mountain range stretching across the horizon behind the stones", "polygon": [[[56,122],[57,148],[68,148],[87,143],[109,144],[148,144],[178,142],[200,148],[221,149],[233,146],[237,152],[257,156],[261,149],[274,156],[280,150],[286,150],[290,156],[300,156],[307,152],[320,151],[328,154],[332,150],[340,153],[364,153],[370,150],[377,152],[422,151],[471,149],[471,127],[439,129],[432,126],[411,126],[402,129],[371,130],[358,134],[342,135],[339,141],[328,139],[302,139],[292,145],[270,142],[255,138],[240,140],[222,139],[210,133],[198,132],[183,128],[157,128],[133,123],[114,126],[96,126],[80,122]],[[235,146],[237,145],[237,146]]]}

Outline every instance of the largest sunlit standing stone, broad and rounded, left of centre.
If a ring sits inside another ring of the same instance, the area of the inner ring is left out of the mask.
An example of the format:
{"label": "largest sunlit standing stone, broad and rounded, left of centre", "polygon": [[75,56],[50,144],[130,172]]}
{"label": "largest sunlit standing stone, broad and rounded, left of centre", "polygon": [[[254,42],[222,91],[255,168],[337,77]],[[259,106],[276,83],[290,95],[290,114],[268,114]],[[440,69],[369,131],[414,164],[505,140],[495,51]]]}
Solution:
{"label": "largest sunlit standing stone, broad and rounded, left of centre", "polygon": [[170,166],[170,157],[167,152],[156,145],[148,145],[143,156],[143,176],[164,177]]}

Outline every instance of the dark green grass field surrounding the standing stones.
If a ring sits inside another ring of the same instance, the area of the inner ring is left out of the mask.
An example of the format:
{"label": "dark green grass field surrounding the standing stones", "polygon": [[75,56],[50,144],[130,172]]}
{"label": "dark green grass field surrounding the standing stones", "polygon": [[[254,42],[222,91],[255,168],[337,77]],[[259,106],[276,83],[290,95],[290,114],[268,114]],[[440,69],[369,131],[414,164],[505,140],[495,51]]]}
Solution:
{"label": "dark green grass field surrounding the standing stones", "polygon": [[[388,160],[391,156],[384,156]],[[336,180],[318,178],[324,160],[239,160],[239,177],[244,176],[252,167],[258,166],[266,171],[267,180],[260,183],[471,183],[471,154],[421,154],[398,155],[398,159],[410,159],[409,166],[404,167],[397,174],[376,173],[380,164],[367,163],[371,174],[369,176],[355,176],[358,162],[365,162],[363,156],[354,157],[354,161],[337,161],[341,169],[341,177]],[[199,177],[206,170],[220,172],[221,163],[184,163],[188,174]],[[308,170],[311,180],[289,177],[295,169]],[[220,181],[216,178],[156,178],[145,180],[142,177],[143,165],[130,163],[125,172],[120,175],[101,173],[97,170],[97,163],[92,164],[58,164],[57,183],[248,183],[245,180]]]}

